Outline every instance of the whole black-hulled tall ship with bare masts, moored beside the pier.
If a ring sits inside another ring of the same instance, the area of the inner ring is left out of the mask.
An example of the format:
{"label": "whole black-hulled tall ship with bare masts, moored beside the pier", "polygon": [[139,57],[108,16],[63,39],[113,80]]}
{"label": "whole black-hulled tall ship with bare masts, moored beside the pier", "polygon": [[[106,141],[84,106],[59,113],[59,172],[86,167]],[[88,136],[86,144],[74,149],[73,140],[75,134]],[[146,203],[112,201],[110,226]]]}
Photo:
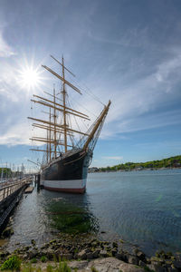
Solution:
{"label": "whole black-hulled tall ship with bare masts, moored beside the pier", "polygon": [[[68,90],[81,95],[81,88],[68,81],[67,77],[65,78],[65,73],[70,73],[73,77],[75,75],[65,67],[63,57],[62,62],[52,55],[51,57],[61,66],[61,74],[55,73],[45,65],[42,66],[61,81],[61,92],[56,93],[53,87],[52,93],[45,92],[50,98],[33,94],[31,101],[42,105],[48,111],[44,112],[46,119],[28,117],[33,121],[33,128],[43,131],[40,135],[43,137],[34,136],[30,140],[41,142],[44,148],[32,148],[31,151],[43,152],[40,184],[44,189],[84,193],[93,150],[109,112],[110,101],[104,105],[90,128],[83,131],[81,121],[90,121],[90,118],[87,114],[71,107],[68,95]],[[77,100],[79,101],[79,97]]]}

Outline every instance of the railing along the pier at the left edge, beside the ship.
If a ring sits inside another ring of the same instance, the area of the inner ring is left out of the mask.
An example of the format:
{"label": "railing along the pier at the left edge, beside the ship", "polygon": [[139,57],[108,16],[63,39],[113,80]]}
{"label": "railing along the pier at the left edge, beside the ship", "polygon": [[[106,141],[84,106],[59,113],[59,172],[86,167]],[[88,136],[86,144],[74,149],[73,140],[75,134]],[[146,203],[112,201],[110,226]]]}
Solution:
{"label": "railing along the pier at the left edge, beside the ship", "polygon": [[14,193],[17,189],[20,189],[27,183],[26,180],[14,181],[11,184],[0,188],[0,202],[6,199],[8,196]]}

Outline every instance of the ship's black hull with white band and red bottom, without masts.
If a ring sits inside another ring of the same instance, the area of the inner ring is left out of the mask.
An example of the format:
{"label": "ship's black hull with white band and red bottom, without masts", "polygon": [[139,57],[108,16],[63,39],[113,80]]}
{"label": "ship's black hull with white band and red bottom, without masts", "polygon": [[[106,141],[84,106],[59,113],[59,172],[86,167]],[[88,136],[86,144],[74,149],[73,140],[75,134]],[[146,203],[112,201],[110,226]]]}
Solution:
{"label": "ship's black hull with white band and red bottom, without masts", "polygon": [[90,162],[90,151],[78,150],[52,160],[41,172],[45,189],[83,193]]}

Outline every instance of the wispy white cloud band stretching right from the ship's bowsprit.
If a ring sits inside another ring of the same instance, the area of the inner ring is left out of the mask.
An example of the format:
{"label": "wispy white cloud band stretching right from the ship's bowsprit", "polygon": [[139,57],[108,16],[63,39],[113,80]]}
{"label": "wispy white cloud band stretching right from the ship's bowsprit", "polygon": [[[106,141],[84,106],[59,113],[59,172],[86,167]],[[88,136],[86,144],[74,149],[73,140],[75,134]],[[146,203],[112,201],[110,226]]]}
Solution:
{"label": "wispy white cloud band stretching right from the ship's bowsprit", "polygon": [[[180,99],[179,88],[181,70],[181,52],[175,52],[172,58],[155,66],[153,73],[135,80],[129,85],[113,86],[112,104],[106,125],[101,134],[109,138],[121,132],[132,132],[159,128],[180,123],[181,111],[173,108]],[[172,107],[167,111],[166,106]],[[164,109],[165,107],[165,109]],[[160,109],[161,112],[160,112]]]}

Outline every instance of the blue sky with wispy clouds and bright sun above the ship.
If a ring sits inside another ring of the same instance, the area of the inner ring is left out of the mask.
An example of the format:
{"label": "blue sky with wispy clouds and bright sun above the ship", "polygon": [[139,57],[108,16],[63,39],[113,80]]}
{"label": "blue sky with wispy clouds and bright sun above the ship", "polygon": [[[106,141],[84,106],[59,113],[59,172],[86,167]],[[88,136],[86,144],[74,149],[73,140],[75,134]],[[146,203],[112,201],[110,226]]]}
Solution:
{"label": "blue sky with wispy clouds and bright sun above the ship", "polygon": [[[100,102],[111,100],[91,166],[181,154],[180,0],[0,0],[0,6],[0,166],[30,169],[28,159],[37,160],[27,116],[38,117],[33,93],[52,92],[53,83],[61,88],[41,66],[60,71],[50,54],[59,60],[63,54],[76,74],[70,80],[85,93],[70,90],[70,99],[92,121]],[[27,71],[35,71],[36,84],[24,80]]]}

